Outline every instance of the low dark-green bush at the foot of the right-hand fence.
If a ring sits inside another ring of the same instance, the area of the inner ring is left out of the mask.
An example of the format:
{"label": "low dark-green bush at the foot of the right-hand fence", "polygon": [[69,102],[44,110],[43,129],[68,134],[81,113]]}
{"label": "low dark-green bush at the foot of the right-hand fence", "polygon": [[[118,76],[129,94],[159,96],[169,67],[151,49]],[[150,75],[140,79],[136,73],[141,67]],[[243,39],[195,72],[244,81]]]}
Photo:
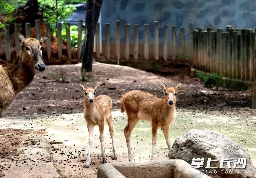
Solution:
{"label": "low dark-green bush at the foot of the right-hand fence", "polygon": [[221,76],[216,73],[205,74],[203,72],[197,72],[197,77],[204,81],[204,87],[206,88],[218,87],[218,81],[221,79]]}

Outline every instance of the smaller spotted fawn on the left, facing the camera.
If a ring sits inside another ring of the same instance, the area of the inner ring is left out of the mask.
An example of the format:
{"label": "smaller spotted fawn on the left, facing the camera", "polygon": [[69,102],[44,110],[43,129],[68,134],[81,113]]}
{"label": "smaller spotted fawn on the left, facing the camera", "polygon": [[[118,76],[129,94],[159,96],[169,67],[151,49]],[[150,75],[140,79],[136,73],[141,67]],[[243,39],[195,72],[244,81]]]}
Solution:
{"label": "smaller spotted fawn on the left, facing the camera", "polygon": [[100,88],[100,84],[96,85],[95,88],[87,87],[85,88],[83,85],[79,85],[80,89],[84,93],[84,118],[87,122],[87,128],[89,132],[89,148],[88,155],[86,159],[86,163],[84,168],[89,167],[91,162],[91,148],[93,141],[93,128],[95,125],[98,125],[100,128],[100,144],[101,144],[101,163],[104,164],[107,162],[105,148],[104,148],[104,122],[107,121],[110,136],[112,139],[112,147],[113,147],[113,157],[112,160],[117,159],[116,151],[114,148],[114,129],[112,126],[112,99],[106,95],[99,95],[95,98],[95,93]]}

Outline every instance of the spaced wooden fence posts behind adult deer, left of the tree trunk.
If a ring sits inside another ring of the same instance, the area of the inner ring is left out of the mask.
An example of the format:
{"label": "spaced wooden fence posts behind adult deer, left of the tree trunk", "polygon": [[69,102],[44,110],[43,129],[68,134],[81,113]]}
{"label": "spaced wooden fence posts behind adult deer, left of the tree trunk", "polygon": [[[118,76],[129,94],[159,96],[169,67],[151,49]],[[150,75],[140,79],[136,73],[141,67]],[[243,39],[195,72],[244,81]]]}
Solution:
{"label": "spaced wooden fence posts behind adult deer, left of the tree trunk", "polygon": [[[80,53],[81,53],[81,47],[82,47],[82,19],[78,20],[78,44],[77,44],[77,57],[78,59],[80,58]],[[46,34],[50,35],[51,39],[51,27],[49,23],[45,23],[46,27]],[[60,36],[58,38],[58,57],[61,59],[62,57],[62,38],[61,38],[61,29],[62,29],[62,24],[58,23],[57,24],[57,36]],[[14,24],[14,35],[15,35],[15,50],[16,50],[16,56],[19,55],[20,53],[20,43],[18,39],[18,34],[20,32],[20,24]],[[5,34],[5,56],[6,60],[10,61],[11,60],[11,43],[10,43],[10,26],[9,24],[5,24],[5,29],[4,29],[4,34]],[[25,35],[26,38],[31,36],[31,26],[30,23],[25,24]],[[40,20],[36,20],[36,39],[41,38],[41,22]],[[70,38],[70,25],[66,26],[66,40],[67,40],[67,52],[68,52],[68,58],[71,60],[71,38]],[[51,51],[51,40],[47,40],[46,42],[46,51],[47,51],[47,58],[48,60],[51,59],[52,51]]]}

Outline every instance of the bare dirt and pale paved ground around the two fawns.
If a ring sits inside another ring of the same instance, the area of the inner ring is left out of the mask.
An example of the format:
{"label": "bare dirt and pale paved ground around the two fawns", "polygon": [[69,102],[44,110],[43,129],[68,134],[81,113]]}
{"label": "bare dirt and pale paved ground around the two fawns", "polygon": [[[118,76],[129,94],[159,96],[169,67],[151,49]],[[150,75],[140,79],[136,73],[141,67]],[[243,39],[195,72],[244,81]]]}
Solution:
{"label": "bare dirt and pale paved ground around the two fawns", "polygon": [[[81,81],[81,64],[47,66],[33,82],[17,95],[0,121],[0,171],[5,177],[96,177],[100,165],[98,128],[94,129],[92,162],[82,169],[88,145],[88,131],[83,119],[84,101],[79,84],[103,83],[98,95],[113,99],[113,125],[117,160],[127,161],[123,135],[126,116],[119,112],[119,100],[125,92],[144,90],[163,96],[159,82],[175,86],[178,93],[177,118],[171,128],[172,142],[192,129],[219,131],[234,138],[256,160],[256,111],[252,110],[252,92],[229,89],[210,90],[188,75],[163,76],[125,66],[93,64],[89,81]],[[61,78],[65,77],[65,82]],[[111,157],[111,139],[105,126],[105,147]],[[159,129],[156,159],[168,159],[167,145]],[[49,144],[50,141],[62,142]],[[141,121],[132,134],[134,158],[150,160],[151,128]],[[24,162],[25,161],[25,162]],[[107,161],[112,162],[110,158]]]}

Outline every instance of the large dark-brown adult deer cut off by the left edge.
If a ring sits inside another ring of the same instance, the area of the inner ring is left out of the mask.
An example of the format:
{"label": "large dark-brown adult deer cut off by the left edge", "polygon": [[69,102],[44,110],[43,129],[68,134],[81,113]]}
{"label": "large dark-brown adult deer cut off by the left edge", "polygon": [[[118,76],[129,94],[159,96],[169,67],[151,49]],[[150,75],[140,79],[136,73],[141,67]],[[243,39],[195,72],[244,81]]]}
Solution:
{"label": "large dark-brown adult deer cut off by the left edge", "polygon": [[6,66],[0,65],[0,118],[13,98],[33,80],[36,71],[44,71],[42,47],[49,38],[43,36],[39,41],[34,38],[24,38],[19,33],[21,46],[19,57]]}

